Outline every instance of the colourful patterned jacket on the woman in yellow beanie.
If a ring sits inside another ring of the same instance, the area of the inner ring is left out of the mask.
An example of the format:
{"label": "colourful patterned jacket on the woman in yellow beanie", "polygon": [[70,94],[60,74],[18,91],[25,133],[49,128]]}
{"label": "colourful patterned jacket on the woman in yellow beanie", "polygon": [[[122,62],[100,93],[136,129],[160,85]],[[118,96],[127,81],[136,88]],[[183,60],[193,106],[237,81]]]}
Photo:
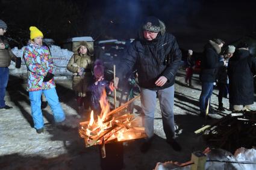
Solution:
{"label": "colourful patterned jacket on the woman in yellow beanie", "polygon": [[49,71],[52,73],[54,63],[48,47],[39,46],[29,42],[23,53],[24,61],[28,68],[27,91],[39,91],[55,88],[54,78],[49,82],[43,82],[43,78]]}

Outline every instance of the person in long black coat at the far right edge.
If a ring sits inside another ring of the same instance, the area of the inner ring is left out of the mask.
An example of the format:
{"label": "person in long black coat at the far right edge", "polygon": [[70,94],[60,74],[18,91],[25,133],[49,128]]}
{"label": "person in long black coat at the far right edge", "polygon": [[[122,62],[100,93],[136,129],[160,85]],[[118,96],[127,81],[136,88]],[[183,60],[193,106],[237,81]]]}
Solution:
{"label": "person in long black coat at the far right edge", "polygon": [[254,75],[256,58],[249,52],[248,44],[240,43],[228,62],[229,102],[233,111],[246,111],[254,104]]}

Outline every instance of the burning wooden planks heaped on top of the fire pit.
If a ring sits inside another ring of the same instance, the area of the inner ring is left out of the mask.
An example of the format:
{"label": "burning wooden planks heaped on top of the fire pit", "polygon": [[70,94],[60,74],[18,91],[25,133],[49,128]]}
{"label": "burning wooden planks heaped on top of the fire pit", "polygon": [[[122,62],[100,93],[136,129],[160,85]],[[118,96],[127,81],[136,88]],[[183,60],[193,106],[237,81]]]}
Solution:
{"label": "burning wooden planks heaped on top of the fire pit", "polygon": [[91,112],[90,121],[81,122],[79,129],[86,147],[145,138],[145,128],[142,127],[141,119],[125,111],[127,106],[138,97],[111,112],[108,112],[107,108],[102,108],[102,113],[97,120],[94,120],[93,112]]}

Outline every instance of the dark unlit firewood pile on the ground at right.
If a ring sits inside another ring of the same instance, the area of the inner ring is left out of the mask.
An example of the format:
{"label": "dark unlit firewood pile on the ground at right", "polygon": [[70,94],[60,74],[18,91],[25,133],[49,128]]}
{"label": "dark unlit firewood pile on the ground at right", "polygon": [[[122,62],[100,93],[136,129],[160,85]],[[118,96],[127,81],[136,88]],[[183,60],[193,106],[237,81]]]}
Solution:
{"label": "dark unlit firewood pile on the ground at right", "polygon": [[213,147],[234,153],[237,148],[256,146],[256,112],[228,114],[195,131]]}

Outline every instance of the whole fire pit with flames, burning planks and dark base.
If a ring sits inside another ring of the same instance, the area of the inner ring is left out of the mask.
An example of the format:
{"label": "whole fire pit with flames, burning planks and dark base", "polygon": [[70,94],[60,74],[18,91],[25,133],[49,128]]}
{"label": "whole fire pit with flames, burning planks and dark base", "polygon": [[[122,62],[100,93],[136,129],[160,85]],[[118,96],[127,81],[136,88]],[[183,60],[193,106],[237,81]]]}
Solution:
{"label": "whole fire pit with flames, burning planks and dark base", "polygon": [[[110,105],[106,101],[107,97],[104,93],[99,101],[101,114],[95,118],[92,111],[90,120],[80,123],[79,134],[81,138],[84,138],[86,147],[99,145],[102,167],[113,165],[111,162],[113,162],[114,157],[123,159],[123,141],[146,137],[145,128],[142,126],[142,119],[126,111],[128,105],[139,97],[134,97],[134,99],[126,102],[119,108],[110,111]],[[110,155],[110,158],[105,159],[106,153]],[[123,162],[120,163],[120,166],[122,164]]]}

